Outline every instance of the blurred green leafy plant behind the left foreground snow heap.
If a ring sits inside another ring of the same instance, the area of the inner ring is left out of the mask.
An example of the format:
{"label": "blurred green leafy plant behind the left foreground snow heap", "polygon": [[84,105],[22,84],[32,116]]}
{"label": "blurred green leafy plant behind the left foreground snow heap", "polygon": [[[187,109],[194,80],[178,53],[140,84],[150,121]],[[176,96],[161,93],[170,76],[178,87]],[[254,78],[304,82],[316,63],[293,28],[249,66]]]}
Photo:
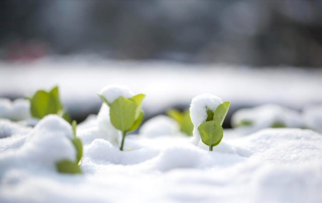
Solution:
{"label": "blurred green leafy plant behind the left foreground snow heap", "polygon": [[[28,97],[27,97],[28,98]],[[70,116],[59,100],[58,87],[54,87],[49,92],[38,90],[30,100],[30,112],[32,117],[42,119],[49,114],[57,114],[70,122]]]}

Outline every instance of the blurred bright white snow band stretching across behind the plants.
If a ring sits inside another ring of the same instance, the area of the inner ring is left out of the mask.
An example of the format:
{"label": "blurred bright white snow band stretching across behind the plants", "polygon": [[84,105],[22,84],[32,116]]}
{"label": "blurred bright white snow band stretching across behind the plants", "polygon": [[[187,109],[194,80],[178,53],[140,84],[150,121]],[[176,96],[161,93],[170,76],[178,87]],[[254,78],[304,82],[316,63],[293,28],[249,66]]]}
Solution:
{"label": "blurred bright white snow band stretching across behind the plants", "polygon": [[322,71],[290,67],[249,68],[162,61],[108,61],[100,58],[45,58],[32,63],[0,63],[0,97],[32,96],[38,89],[59,85],[64,106],[72,115],[98,110],[97,92],[123,84],[146,95],[146,116],[182,104],[202,93],[231,101],[231,110],[266,103],[302,109],[322,102]]}

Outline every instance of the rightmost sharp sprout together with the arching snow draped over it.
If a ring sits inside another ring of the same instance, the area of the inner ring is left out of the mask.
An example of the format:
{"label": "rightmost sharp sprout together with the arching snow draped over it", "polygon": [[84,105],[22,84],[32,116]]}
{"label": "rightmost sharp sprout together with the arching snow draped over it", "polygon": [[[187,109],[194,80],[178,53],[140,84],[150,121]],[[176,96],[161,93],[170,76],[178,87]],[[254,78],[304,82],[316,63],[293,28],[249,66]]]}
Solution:
{"label": "rightmost sharp sprout together with the arching snow draped over it", "polygon": [[209,149],[219,144],[223,135],[221,127],[230,102],[211,94],[201,94],[192,99],[190,117],[194,125],[192,143],[198,145],[200,138]]}

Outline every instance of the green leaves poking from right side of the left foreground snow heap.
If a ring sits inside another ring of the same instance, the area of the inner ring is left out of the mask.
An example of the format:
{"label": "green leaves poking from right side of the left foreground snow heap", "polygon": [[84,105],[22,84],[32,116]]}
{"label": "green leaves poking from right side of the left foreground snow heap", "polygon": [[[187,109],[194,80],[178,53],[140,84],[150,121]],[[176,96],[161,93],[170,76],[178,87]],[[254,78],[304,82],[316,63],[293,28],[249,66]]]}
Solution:
{"label": "green leaves poking from right side of the left foreground snow heap", "polygon": [[79,162],[81,162],[82,155],[83,155],[83,145],[81,139],[76,137],[76,121],[72,121],[72,131],[73,131],[73,138],[70,140],[71,143],[74,145],[76,150],[76,162],[70,161],[68,159],[63,159],[56,163],[56,168],[58,172],[61,173],[82,173],[81,168],[79,168]]}

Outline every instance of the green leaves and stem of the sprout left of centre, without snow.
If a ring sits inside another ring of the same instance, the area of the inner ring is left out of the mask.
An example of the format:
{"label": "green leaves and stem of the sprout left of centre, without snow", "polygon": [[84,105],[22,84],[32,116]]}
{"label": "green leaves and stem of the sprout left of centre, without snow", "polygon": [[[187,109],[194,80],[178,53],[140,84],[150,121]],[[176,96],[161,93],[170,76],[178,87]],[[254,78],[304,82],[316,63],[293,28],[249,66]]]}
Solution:
{"label": "green leaves and stem of the sprout left of centre, without snow", "polygon": [[122,132],[120,150],[123,151],[126,133],[135,130],[143,120],[142,101],[145,95],[138,94],[130,99],[120,96],[112,103],[109,103],[102,95],[99,96],[110,107],[112,125]]}

